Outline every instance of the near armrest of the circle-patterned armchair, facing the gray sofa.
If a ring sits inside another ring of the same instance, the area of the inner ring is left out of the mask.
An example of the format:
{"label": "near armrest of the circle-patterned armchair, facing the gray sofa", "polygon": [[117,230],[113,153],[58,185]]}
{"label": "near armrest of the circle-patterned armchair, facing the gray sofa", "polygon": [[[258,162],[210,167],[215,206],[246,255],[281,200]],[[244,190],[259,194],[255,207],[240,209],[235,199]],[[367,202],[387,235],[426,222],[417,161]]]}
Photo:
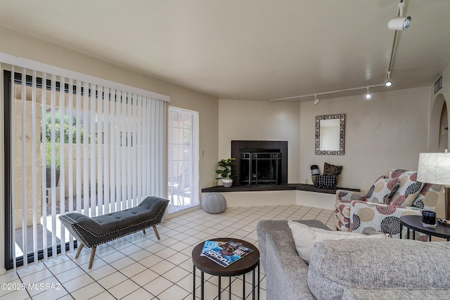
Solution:
{"label": "near armrest of the circle-patterned armchair, facing the gray sofa", "polygon": [[[406,215],[422,215],[416,207],[399,207],[390,204],[352,201],[350,207],[350,231],[367,233],[380,231],[389,233],[392,237],[400,237],[400,217]],[[401,232],[401,238],[406,237],[406,228]],[[427,241],[428,236],[416,233],[416,239]]]}

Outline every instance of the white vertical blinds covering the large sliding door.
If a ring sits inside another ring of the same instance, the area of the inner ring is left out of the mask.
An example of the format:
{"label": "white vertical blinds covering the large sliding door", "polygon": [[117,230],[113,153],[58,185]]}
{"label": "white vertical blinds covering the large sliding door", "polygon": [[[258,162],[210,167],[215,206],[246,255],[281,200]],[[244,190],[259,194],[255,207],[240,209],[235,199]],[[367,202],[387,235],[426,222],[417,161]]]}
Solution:
{"label": "white vertical blinds covering the large sliding door", "polygon": [[165,96],[82,74],[7,68],[15,244],[6,247],[16,259],[23,254],[24,266],[39,251],[56,256],[58,244],[74,248],[60,214],[98,216],[165,197]]}

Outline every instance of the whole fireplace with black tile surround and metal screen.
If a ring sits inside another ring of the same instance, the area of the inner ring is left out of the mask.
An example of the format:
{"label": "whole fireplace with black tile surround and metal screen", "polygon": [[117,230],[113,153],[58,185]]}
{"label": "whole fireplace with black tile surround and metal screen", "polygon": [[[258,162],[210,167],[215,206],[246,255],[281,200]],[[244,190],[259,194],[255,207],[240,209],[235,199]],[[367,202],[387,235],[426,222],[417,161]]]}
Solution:
{"label": "whole fireplace with black tile surround and metal screen", "polygon": [[236,158],[233,185],[280,185],[288,183],[287,141],[231,141]]}

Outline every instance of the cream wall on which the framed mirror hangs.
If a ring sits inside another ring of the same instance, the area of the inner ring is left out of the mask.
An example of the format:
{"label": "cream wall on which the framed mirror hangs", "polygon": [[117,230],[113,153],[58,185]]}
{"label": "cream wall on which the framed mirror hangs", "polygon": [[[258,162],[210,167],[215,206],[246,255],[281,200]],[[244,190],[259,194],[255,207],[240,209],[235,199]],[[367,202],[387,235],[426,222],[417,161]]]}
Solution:
{"label": "cream wall on which the framed mirror hangs", "polygon": [[[322,99],[300,105],[300,181],[311,164],[343,166],[338,185],[368,190],[388,169],[416,170],[418,155],[428,150],[430,88]],[[316,115],[345,114],[345,155],[315,155]]]}

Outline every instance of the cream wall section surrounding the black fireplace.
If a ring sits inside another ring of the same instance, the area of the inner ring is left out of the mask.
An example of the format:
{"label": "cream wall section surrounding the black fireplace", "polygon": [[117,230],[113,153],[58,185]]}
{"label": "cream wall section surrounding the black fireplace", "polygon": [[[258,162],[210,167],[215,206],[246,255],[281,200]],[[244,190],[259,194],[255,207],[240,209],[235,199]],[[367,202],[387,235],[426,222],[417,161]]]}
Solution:
{"label": "cream wall section surrounding the black fireplace", "polygon": [[299,133],[300,103],[219,99],[219,159],[231,141],[288,141],[288,183],[299,183]]}

